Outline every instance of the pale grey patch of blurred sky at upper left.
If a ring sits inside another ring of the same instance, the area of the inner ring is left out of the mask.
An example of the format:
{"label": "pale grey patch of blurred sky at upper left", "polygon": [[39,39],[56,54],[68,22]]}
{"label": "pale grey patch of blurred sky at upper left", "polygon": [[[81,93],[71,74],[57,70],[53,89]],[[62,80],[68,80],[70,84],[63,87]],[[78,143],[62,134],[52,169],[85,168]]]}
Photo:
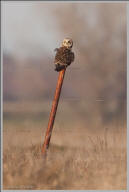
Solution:
{"label": "pale grey patch of blurred sky at upper left", "polygon": [[[41,2],[3,2],[3,47],[6,52],[26,57],[54,49],[57,44],[56,19]],[[54,4],[53,4],[54,5]],[[52,7],[50,7],[52,8]],[[44,49],[45,48],[45,49]]]}

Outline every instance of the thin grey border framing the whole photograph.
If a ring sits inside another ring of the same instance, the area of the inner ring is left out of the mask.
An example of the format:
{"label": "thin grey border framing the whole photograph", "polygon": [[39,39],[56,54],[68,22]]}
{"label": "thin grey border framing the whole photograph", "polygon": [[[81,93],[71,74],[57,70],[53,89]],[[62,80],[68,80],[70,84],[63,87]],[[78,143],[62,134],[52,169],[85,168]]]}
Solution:
{"label": "thin grey border framing the whole photograph", "polygon": [[[22,0],[21,0],[22,1]],[[3,3],[6,1],[1,1],[1,191],[6,191],[6,192],[18,192],[18,191],[61,191],[61,192],[65,192],[65,191],[69,191],[69,190],[3,190],[3,39],[2,39],[2,35],[3,35],[3,31],[2,31],[2,26],[3,26],[3,20],[2,20],[2,16],[3,16]],[[15,2],[15,1],[10,1],[10,2]],[[20,2],[20,1],[19,1]],[[37,3],[37,2],[41,2],[41,1],[25,1],[25,2],[33,2],[33,3]],[[128,0],[127,1],[42,1],[44,3],[126,3],[127,5],[127,73],[129,73],[128,71],[128,60],[129,60],[129,3]],[[127,84],[129,82],[129,78],[127,75]],[[128,117],[128,91],[129,91],[129,87],[127,86],[127,117]],[[128,136],[129,136],[129,131],[128,131],[128,118],[127,118],[127,146],[129,145],[129,141],[128,141]],[[129,173],[129,166],[128,166],[128,148],[127,148],[127,177],[128,177],[128,173]],[[104,192],[109,192],[109,190],[70,190],[71,192],[81,192],[81,191],[89,191],[89,192],[95,192],[95,191],[104,191]],[[110,192],[125,192],[128,191],[128,180],[127,180],[127,189],[126,190],[110,190]]]}

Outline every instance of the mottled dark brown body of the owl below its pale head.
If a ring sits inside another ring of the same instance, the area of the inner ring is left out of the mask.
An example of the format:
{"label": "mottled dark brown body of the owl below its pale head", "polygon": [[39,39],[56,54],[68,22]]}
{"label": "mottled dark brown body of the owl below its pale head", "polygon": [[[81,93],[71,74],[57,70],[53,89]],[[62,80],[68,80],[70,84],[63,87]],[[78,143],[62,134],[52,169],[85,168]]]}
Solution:
{"label": "mottled dark brown body of the owl below its pale head", "polygon": [[56,71],[61,71],[74,61],[74,53],[70,49],[66,47],[60,47],[56,48],[55,51],[56,55],[54,64]]}

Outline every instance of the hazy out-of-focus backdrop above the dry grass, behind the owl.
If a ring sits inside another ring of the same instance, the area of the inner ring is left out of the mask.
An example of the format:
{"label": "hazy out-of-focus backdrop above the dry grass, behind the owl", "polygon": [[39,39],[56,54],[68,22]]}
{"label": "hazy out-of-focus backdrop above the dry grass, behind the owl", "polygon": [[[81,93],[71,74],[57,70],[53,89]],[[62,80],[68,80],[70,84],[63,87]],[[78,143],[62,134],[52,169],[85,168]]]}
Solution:
{"label": "hazy out-of-focus backdrop above the dry grass, behind the owl", "polygon": [[[4,125],[46,129],[58,73],[54,49],[73,39],[56,130],[126,124],[126,4],[4,2]],[[23,124],[24,123],[24,124]]]}

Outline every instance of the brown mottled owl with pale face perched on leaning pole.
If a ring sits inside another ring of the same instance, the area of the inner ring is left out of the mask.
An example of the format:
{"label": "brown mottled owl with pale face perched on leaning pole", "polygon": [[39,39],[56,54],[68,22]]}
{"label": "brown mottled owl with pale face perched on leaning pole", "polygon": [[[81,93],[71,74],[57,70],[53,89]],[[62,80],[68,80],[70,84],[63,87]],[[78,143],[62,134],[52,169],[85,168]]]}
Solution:
{"label": "brown mottled owl with pale face perched on leaning pole", "polygon": [[62,42],[62,46],[55,49],[55,71],[61,71],[62,69],[65,69],[74,61],[74,53],[71,51],[72,46],[72,39],[66,38]]}

